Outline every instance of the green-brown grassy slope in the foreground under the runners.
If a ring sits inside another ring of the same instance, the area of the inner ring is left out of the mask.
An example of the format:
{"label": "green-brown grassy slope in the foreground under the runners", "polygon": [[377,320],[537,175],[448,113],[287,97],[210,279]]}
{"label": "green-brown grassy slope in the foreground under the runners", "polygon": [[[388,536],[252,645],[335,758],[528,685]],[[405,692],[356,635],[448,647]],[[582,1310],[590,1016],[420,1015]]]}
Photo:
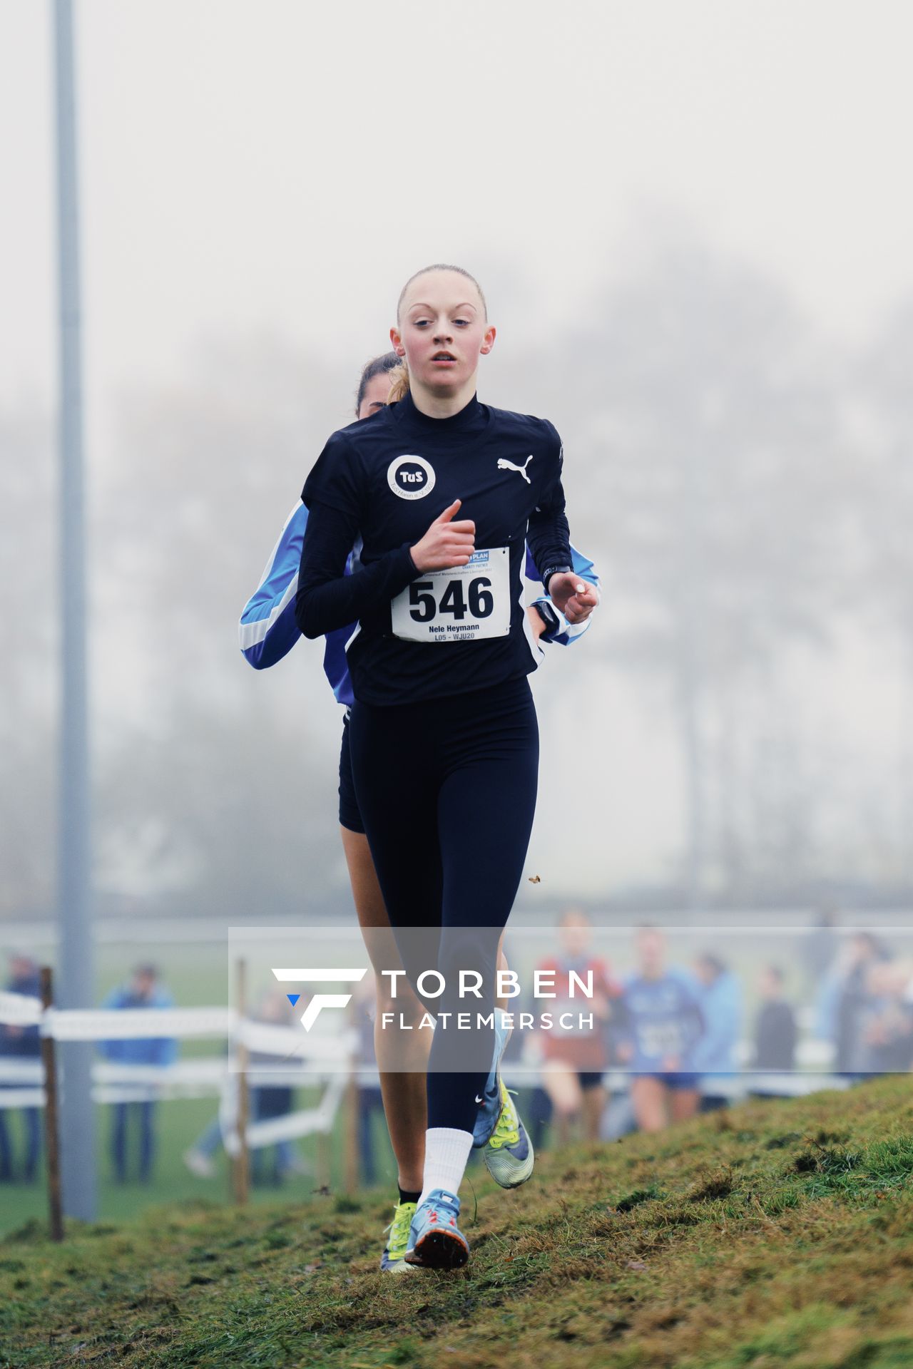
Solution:
{"label": "green-brown grassy slope in the foreground under the runners", "polygon": [[754,1102],[464,1186],[456,1275],[376,1273],[387,1194],[0,1242],[0,1365],[909,1369],[913,1088]]}

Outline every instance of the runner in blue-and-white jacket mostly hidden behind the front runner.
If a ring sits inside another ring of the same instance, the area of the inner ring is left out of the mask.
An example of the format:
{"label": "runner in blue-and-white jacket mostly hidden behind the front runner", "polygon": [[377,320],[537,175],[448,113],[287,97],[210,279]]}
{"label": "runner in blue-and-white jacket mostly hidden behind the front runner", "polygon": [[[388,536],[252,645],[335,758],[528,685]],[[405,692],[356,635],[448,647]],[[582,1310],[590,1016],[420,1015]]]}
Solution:
{"label": "runner in blue-and-white jacket mostly hidden behind the front runner", "polygon": [[[402,372],[401,359],[396,352],[387,352],[368,361],[361,372],[356,394],[356,418],[371,418],[386,405],[389,393],[401,392],[404,389]],[[394,385],[393,392],[390,392],[390,381]],[[294,620],[294,596],[307,522],[307,505],[298,500],[270,554],[260,583],[241,615],[240,645],[245,658],[255,669],[275,665],[301,637]],[[600,580],[593,563],[575,548],[571,548],[571,552],[575,572],[593,585],[598,594]],[[356,564],[357,557],[353,553],[348,570],[353,570]],[[538,579],[538,572],[528,553],[526,574],[530,579]],[[527,616],[530,628],[539,642],[569,645],[582,637],[589,627],[589,620],[568,623],[548,598],[537,600],[527,609]],[[345,643],[353,631],[355,624],[349,624],[329,632],[323,657],[330,686],[337,700],[344,705],[353,702],[345,660]],[[348,723],[346,706],[339,756],[339,831],[359,923],[363,928],[383,928],[389,927],[389,919],[355,798]],[[371,950],[371,939],[367,938],[367,941]],[[375,968],[379,971],[381,967]],[[506,968],[506,962],[501,961],[500,968]],[[427,1031],[415,1029],[422,1016],[422,1006],[415,994],[405,987],[400,990],[396,1001],[391,999],[389,982],[382,979],[379,973],[375,976],[375,1053],[400,1186],[398,1202],[390,1224],[390,1239],[381,1257],[381,1268],[390,1273],[398,1273],[412,1269],[412,1265],[405,1264],[402,1255],[409,1223],[422,1188],[426,1132],[424,1072],[431,1042]],[[402,1013],[404,1024],[413,1028],[411,1036],[402,1036],[407,1043],[405,1050],[393,1040],[390,1032],[381,1029],[385,1012]],[[526,1168],[523,1162],[527,1157],[523,1155],[522,1144],[524,1128],[513,1102],[504,1097],[501,1101],[505,1102],[505,1108],[485,1143],[483,1158],[498,1183],[513,1187],[517,1175]],[[483,1138],[478,1139],[480,1142]],[[528,1147],[528,1154],[531,1155],[531,1147]]]}

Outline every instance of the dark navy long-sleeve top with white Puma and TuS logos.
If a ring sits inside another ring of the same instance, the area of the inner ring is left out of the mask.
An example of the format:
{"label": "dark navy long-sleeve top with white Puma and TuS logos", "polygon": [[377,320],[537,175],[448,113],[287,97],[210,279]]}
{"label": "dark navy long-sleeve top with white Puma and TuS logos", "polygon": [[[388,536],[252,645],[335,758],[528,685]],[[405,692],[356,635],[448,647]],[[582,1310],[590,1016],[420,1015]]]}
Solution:
{"label": "dark navy long-sleeve top with white Puma and TuS logos", "polygon": [[[542,576],[571,564],[561,460],[550,423],[475,398],[431,419],[407,396],[333,434],[301,493],[296,620],[311,638],[359,620],[356,700],[408,704],[535,669],[522,570],[527,543]],[[476,526],[472,563],[419,574],[409,548],[456,498]]]}

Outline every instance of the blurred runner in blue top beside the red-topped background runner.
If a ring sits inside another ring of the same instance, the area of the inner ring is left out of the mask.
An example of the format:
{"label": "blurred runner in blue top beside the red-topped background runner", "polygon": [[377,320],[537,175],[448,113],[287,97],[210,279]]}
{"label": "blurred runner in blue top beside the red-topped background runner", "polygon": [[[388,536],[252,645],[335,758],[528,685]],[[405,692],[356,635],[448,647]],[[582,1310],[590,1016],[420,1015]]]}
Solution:
{"label": "blurred runner in blue top beside the red-topped background runner", "polygon": [[657,927],[636,934],[638,969],[626,980],[627,1040],[619,1057],[631,1071],[631,1103],[641,1131],[661,1131],[693,1117],[698,1106],[694,1047],[704,1032],[695,986],[665,968],[665,936]]}

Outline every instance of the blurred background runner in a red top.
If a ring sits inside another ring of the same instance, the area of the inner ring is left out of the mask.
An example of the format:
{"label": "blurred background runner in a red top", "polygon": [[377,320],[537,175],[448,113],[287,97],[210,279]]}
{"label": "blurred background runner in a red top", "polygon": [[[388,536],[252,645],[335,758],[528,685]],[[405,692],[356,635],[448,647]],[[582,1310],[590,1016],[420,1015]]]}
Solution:
{"label": "blurred background runner in a red top", "polygon": [[[560,951],[538,967],[541,972],[554,975],[557,997],[541,1008],[552,1013],[554,1027],[542,1031],[542,1088],[552,1105],[556,1139],[565,1146],[571,1139],[571,1128],[583,1123],[587,1140],[598,1140],[600,1120],[605,1109],[605,1088],[602,1075],[608,1066],[606,1025],[612,1016],[612,1002],[620,997],[620,986],[613,983],[609,967],[590,951],[593,930],[586,913],[568,909],[558,920]],[[587,983],[593,979],[593,997],[587,998],[580,988],[571,997],[571,971]],[[593,1028],[572,1025],[560,1027],[563,1014],[576,1024],[580,1014],[593,1014]],[[537,1110],[538,1120],[538,1110]]]}

